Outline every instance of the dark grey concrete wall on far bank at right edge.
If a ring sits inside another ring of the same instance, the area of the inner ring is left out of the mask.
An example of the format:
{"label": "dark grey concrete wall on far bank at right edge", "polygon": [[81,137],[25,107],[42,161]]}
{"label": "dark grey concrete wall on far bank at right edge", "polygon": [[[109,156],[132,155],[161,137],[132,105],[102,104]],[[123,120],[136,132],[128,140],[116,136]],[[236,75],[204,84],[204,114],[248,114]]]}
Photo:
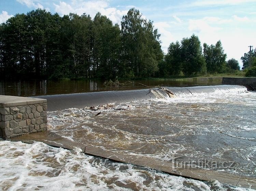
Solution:
{"label": "dark grey concrete wall on far bank at right edge", "polygon": [[247,85],[256,90],[256,77],[223,77],[222,84]]}

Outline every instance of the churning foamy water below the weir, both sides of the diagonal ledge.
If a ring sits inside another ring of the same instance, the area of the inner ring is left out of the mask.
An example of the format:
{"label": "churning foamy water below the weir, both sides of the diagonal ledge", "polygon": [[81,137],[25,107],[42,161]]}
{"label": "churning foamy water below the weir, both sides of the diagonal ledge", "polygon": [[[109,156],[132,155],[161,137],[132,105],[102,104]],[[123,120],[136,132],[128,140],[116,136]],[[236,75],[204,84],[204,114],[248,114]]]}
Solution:
{"label": "churning foamy water below the weir, both sides of the diagonal ledge", "polygon": [[[241,87],[120,103],[97,111],[50,111],[48,129],[107,151],[255,179],[255,112],[256,93]],[[0,147],[2,190],[250,190],[41,142],[0,141]]]}

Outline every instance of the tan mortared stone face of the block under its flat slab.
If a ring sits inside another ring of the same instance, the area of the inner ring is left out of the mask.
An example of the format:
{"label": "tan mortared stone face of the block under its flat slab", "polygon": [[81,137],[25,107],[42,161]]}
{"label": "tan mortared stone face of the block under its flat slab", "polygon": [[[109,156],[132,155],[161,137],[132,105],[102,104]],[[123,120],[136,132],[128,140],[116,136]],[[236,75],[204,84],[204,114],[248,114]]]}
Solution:
{"label": "tan mortared stone face of the block under its flat slab", "polygon": [[47,103],[46,100],[43,102],[29,105],[0,106],[0,137],[6,139],[45,131],[47,129]]}

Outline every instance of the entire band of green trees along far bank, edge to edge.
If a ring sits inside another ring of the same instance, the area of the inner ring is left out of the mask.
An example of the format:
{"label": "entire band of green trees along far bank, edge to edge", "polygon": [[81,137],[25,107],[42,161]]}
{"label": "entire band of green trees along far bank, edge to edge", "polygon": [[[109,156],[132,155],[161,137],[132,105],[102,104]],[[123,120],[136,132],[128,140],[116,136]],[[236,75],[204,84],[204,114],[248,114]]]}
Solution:
{"label": "entire band of green trees along far bank, edge to edge", "polygon": [[[240,70],[227,60],[221,41],[203,44],[196,35],[161,50],[153,21],[131,8],[120,26],[104,15],[60,17],[37,9],[0,24],[0,78],[114,79],[198,76]],[[256,49],[241,57],[255,75]],[[251,67],[250,66],[251,63]]]}

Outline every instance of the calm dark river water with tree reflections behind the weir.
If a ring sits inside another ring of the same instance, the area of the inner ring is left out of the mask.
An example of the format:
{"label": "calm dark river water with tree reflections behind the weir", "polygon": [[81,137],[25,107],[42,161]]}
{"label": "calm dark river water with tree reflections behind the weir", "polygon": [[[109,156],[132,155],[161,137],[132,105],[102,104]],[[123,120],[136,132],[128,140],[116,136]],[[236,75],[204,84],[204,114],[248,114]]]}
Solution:
{"label": "calm dark river water with tree reflections behind the weir", "polygon": [[[125,81],[120,81],[124,83]],[[198,86],[198,85],[221,85],[221,77],[204,77],[182,80],[136,80],[133,83],[142,83],[147,86]],[[132,84],[120,87],[105,87],[103,81],[99,80],[33,80],[33,81],[0,81],[0,95],[15,96],[38,96],[53,95],[66,93],[82,93],[93,91],[109,91],[109,90],[131,90],[146,88],[139,84]]]}

